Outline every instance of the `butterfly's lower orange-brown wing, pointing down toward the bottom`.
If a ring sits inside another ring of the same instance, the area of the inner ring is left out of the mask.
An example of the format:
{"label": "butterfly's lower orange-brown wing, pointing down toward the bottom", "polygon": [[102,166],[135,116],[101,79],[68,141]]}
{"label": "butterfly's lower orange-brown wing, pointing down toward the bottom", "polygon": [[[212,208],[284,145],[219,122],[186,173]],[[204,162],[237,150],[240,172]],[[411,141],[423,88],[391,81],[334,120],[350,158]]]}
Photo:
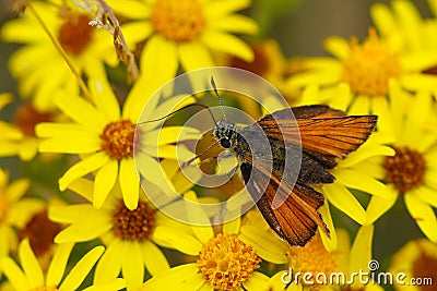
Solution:
{"label": "butterfly's lower orange-brown wing, pointing down toward the bottom", "polygon": [[[323,196],[305,185],[294,185],[293,190],[279,184],[274,177],[265,174],[260,168],[252,168],[251,163],[240,166],[246,187],[257,202],[261,215],[280,238],[291,245],[305,245],[320,227],[329,234],[317,208],[323,204]],[[267,187],[265,187],[267,185]],[[265,187],[265,190],[263,189]],[[283,204],[273,208],[275,195],[286,195]]]}

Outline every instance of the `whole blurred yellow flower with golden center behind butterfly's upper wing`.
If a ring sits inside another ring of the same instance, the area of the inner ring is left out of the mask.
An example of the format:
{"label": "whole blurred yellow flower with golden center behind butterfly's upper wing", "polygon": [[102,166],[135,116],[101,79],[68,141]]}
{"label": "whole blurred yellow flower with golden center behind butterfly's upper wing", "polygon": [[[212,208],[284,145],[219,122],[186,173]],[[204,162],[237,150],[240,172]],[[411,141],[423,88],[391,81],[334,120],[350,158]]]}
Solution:
{"label": "whole blurred yellow flower with golden center behind butterfly's upper wing", "polygon": [[288,80],[295,88],[320,87],[319,95],[305,95],[304,104],[326,102],[349,113],[370,112],[386,119],[390,80],[411,90],[435,92],[437,86],[436,76],[422,74],[436,64],[436,53],[404,52],[398,43],[378,37],[374,28],[363,44],[330,37],[326,48],[334,58],[309,58],[308,70]]}

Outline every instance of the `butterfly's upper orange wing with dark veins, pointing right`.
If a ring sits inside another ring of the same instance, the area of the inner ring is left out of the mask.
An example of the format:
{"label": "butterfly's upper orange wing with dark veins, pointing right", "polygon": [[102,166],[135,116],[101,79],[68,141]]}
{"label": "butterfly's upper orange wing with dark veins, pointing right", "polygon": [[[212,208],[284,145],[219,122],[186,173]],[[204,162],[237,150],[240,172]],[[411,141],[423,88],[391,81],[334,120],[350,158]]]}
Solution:
{"label": "butterfly's upper orange wing with dark veins, pointing right", "polygon": [[[332,168],[333,158],[344,158],[357,149],[374,131],[376,116],[345,116],[328,106],[304,106],[292,109],[296,121],[290,121],[290,109],[267,116],[258,123],[269,138],[298,144],[316,159]],[[286,118],[287,117],[287,118]]]}

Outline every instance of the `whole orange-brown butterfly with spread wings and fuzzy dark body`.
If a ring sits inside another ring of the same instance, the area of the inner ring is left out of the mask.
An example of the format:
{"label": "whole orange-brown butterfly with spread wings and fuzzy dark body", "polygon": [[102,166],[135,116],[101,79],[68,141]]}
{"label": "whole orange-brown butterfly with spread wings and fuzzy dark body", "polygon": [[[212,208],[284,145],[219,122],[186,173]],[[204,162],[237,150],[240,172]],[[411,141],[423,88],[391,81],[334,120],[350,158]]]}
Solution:
{"label": "whole orange-brown butterfly with spread wings and fuzzy dark body", "polygon": [[[213,78],[211,83],[220,97]],[[290,120],[290,110],[295,121]],[[317,227],[329,235],[317,211],[324,197],[311,185],[334,182],[328,170],[336,166],[335,158],[344,158],[357,149],[374,131],[376,122],[376,116],[346,116],[323,105],[283,109],[265,116],[256,125],[268,137],[272,171],[262,158],[253,159],[247,136],[256,141],[259,133],[251,125],[237,128],[222,120],[215,123],[213,136],[237,157],[246,187],[269,226],[291,245],[303,246],[315,235]],[[286,166],[285,154],[294,150],[302,150],[302,160],[293,185],[287,181],[293,180],[296,163]],[[284,197],[279,207],[273,207],[275,195]]]}

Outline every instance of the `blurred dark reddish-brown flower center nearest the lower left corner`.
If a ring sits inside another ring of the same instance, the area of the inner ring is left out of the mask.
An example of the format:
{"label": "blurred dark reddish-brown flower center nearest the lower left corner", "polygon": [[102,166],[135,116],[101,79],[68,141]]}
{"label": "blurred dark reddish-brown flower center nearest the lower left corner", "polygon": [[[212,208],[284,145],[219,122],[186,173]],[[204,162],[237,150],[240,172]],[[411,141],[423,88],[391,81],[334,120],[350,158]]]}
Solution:
{"label": "blurred dark reddish-brown flower center nearest the lower left corner", "polygon": [[47,210],[35,214],[21,230],[21,240],[28,238],[34,254],[39,256],[45,254],[54,244],[56,234],[61,231],[58,223],[48,220]]}

